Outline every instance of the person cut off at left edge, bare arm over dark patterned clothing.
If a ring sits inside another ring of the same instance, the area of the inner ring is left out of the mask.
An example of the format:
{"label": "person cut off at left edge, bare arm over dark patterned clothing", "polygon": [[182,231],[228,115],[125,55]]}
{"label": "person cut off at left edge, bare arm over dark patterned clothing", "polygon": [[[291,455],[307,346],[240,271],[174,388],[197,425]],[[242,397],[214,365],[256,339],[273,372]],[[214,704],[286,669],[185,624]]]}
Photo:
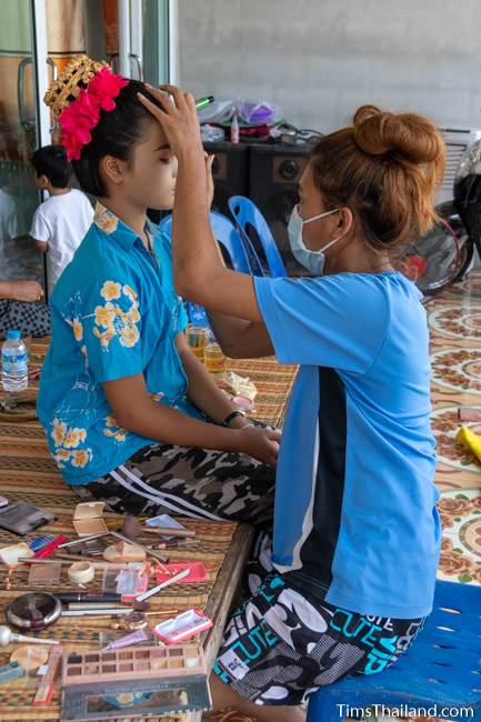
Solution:
{"label": "person cut off at left edge, bare arm over dark patterned clothing", "polygon": [[39,303],[43,290],[37,281],[0,281],[0,339],[9,329],[22,335],[50,335],[50,310]]}

